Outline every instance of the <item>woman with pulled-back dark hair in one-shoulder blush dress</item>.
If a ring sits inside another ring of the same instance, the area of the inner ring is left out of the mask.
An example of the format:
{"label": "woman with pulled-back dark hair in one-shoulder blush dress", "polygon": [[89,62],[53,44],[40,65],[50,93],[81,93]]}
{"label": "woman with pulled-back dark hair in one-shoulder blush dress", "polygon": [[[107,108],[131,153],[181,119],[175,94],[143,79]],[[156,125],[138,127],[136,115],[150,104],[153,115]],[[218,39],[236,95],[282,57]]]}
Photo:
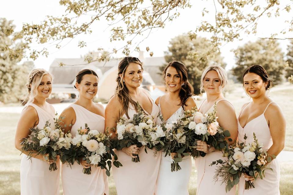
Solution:
{"label": "woman with pulled-back dark hair in one-shoulder blush dress", "polygon": [[[91,130],[104,132],[105,119],[103,105],[96,104],[92,100],[98,91],[98,76],[90,69],[81,70],[76,76],[74,86],[79,91],[79,98],[72,105],[67,107],[60,116],[65,117],[65,133],[71,132],[74,137],[78,129],[85,128],[85,123]],[[72,124],[70,126],[69,124]],[[64,195],[72,194],[96,194],[108,195],[108,178],[105,169],[92,166],[92,173],[86,175],[83,168],[91,166],[80,159],[80,165],[74,162],[71,168],[66,164],[62,165],[61,179]]]}

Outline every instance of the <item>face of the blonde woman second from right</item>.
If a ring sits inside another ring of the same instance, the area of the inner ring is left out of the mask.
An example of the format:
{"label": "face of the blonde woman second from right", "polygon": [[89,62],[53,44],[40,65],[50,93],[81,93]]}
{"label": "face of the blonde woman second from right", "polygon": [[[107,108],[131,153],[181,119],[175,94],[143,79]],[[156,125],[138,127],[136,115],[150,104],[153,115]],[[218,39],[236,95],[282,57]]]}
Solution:
{"label": "face of the blonde woman second from right", "polygon": [[221,93],[221,80],[219,79],[217,71],[208,71],[204,76],[204,90],[207,95],[217,95]]}

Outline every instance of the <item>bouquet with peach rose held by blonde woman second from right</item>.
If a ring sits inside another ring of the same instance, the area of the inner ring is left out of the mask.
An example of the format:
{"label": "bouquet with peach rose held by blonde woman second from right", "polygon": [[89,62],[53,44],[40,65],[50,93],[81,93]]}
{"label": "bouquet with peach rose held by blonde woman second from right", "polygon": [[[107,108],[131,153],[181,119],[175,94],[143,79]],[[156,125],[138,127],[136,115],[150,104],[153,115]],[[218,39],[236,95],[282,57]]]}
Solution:
{"label": "bouquet with peach rose held by blonde woman second from right", "polygon": [[[216,104],[214,105],[214,111],[205,115],[198,112],[196,108],[184,112],[185,117],[181,120],[194,133],[194,144],[190,143],[190,155],[194,158],[204,157],[206,155],[203,151],[195,149],[196,140],[205,141],[208,145],[215,147],[216,150],[228,148],[225,137],[230,137],[230,132],[219,126],[215,110]],[[232,141],[231,138],[228,140]]]}

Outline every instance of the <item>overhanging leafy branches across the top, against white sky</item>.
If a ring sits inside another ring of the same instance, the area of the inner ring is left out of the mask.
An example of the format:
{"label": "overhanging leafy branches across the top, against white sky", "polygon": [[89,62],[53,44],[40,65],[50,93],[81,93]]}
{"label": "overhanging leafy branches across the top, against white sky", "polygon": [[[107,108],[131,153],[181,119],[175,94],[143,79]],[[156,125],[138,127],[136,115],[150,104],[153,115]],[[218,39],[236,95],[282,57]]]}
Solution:
{"label": "overhanging leafy branches across the top, against white sky", "polygon": [[[139,43],[152,30],[164,28],[166,22],[175,20],[180,17],[180,12],[191,7],[190,0],[60,0],[59,3],[66,10],[62,16],[47,16],[40,23],[25,23],[19,36],[24,37],[27,43],[37,42],[46,46],[49,43],[59,49],[80,34],[91,34],[97,29],[94,25],[103,21],[110,29],[109,41],[123,42],[122,47],[112,48],[111,53],[121,51],[129,55],[131,51],[139,50]],[[261,31],[258,23],[262,18],[276,17],[286,25],[275,26],[271,36],[262,38],[287,39],[293,31],[292,0],[201,1],[196,6],[202,6],[202,17],[190,16],[194,25],[191,34],[196,37],[199,33],[208,33],[216,47]],[[279,17],[284,16],[283,13],[288,16]],[[86,45],[85,41],[80,40],[77,47]],[[48,55],[46,46],[31,49],[30,57],[35,59],[39,55]],[[151,49],[148,51],[153,55]],[[99,59],[107,60],[108,54],[104,55],[99,56]]]}

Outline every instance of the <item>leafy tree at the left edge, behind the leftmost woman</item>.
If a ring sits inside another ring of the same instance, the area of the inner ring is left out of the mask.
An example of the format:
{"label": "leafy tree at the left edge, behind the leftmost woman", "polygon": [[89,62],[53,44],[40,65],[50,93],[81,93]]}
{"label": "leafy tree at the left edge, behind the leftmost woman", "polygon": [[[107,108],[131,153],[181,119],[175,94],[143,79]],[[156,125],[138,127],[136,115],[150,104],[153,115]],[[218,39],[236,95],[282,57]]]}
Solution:
{"label": "leafy tree at the left edge, behind the leftmost woman", "polygon": [[15,102],[24,92],[32,62],[17,65],[24,56],[26,44],[14,36],[12,21],[0,18],[0,101]]}

